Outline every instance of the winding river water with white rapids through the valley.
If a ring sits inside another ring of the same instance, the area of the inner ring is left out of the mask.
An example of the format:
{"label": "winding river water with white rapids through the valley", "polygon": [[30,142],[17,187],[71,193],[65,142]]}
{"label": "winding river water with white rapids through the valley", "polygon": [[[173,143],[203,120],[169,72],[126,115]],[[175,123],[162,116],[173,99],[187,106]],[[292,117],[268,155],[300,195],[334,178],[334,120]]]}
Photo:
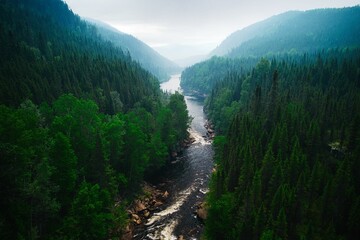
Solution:
{"label": "winding river water with white rapids through the valley", "polygon": [[[163,91],[175,92],[180,89],[180,75],[161,84]],[[203,223],[197,219],[197,205],[204,200],[213,167],[213,149],[206,137],[206,118],[203,103],[185,96],[189,115],[193,117],[190,134],[195,142],[185,149],[166,170],[159,184],[160,189],[170,193],[170,202],[155,213],[134,239],[200,239]]]}

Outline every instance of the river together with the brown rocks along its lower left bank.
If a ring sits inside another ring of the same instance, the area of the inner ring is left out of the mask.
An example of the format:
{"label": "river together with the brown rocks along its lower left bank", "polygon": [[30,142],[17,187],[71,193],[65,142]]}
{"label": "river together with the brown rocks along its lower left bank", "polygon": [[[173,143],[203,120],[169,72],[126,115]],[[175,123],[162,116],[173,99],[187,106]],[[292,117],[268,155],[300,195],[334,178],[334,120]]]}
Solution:
{"label": "river together with the brown rocks along its lower left bank", "polygon": [[[179,82],[180,75],[174,75],[168,82],[161,84],[161,88],[163,91],[181,92]],[[169,158],[167,167],[154,176],[155,181],[150,184],[153,189],[148,191],[153,194],[145,194],[146,191],[143,194],[149,199],[139,197],[141,201],[133,202],[129,207],[131,211],[136,206],[137,210],[145,207],[135,213],[138,217],[132,215],[134,212],[128,212],[132,219],[130,224],[134,228],[132,239],[200,239],[202,235],[204,224],[196,211],[208,192],[213,169],[212,136],[208,136],[208,130],[204,127],[206,118],[203,101],[185,95],[185,102],[193,119],[189,129],[190,138],[178,144],[176,154],[170,153],[173,156]],[[181,151],[178,151],[180,148]],[[163,199],[166,192],[167,198]],[[151,204],[159,201],[162,205],[151,209]]]}

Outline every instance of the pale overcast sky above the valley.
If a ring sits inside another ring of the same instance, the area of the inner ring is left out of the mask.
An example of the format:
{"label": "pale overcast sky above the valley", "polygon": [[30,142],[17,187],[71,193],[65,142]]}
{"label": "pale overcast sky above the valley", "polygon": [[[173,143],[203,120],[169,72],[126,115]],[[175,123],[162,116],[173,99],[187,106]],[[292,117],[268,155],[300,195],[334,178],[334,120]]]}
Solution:
{"label": "pale overcast sky above the valley", "polygon": [[65,0],[81,17],[106,22],[176,60],[209,53],[232,32],[289,10],[359,5],[360,0]]}

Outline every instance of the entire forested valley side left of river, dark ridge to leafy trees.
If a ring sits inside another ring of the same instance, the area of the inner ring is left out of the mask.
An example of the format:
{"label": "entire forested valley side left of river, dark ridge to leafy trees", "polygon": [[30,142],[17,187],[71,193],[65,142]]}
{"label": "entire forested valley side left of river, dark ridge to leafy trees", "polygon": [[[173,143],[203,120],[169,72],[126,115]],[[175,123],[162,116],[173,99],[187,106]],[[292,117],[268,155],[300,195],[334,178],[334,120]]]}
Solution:
{"label": "entire forested valley side left of river, dark ridge to leafy trees", "polygon": [[187,137],[184,97],[60,0],[0,1],[0,238],[121,237]]}

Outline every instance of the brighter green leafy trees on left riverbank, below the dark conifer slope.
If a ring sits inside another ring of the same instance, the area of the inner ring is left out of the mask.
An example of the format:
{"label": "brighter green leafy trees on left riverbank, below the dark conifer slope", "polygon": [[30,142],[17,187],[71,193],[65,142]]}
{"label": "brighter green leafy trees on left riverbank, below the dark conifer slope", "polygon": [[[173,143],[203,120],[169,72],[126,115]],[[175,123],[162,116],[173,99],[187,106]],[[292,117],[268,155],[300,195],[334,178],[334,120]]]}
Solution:
{"label": "brighter green leafy trees on left riverbank, below the dark conifer slope", "polygon": [[164,166],[187,120],[178,93],[153,112],[116,115],[73,95],[50,106],[0,105],[1,239],[105,239],[121,230],[123,200]]}

